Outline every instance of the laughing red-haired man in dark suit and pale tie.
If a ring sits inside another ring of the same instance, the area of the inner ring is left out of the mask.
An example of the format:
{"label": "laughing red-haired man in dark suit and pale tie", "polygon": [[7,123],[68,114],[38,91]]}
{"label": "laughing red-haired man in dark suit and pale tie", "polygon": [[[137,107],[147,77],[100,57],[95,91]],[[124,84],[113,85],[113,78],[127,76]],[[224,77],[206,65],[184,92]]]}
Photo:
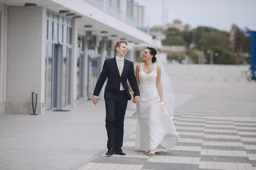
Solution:
{"label": "laughing red-haired man in dark suit and pale tie", "polygon": [[127,45],[125,41],[116,42],[116,57],[105,60],[93,92],[93,103],[97,105],[99,93],[108,77],[104,93],[106,107],[105,122],[108,133],[108,152],[106,155],[125,155],[121,149],[124,135],[124,119],[128,100],[131,100],[127,79],[134,91],[133,102],[137,103],[140,96],[134,76],[133,62],[124,58],[127,53]]}

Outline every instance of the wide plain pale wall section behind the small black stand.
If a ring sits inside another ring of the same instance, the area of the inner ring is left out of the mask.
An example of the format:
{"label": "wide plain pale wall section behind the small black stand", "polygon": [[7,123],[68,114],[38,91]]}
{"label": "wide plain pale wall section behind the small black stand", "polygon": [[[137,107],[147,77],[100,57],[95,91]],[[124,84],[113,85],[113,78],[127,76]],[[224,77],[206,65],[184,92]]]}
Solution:
{"label": "wide plain pale wall section behind the small black stand", "polygon": [[32,91],[44,112],[45,16],[41,7],[8,7],[6,113],[32,113]]}

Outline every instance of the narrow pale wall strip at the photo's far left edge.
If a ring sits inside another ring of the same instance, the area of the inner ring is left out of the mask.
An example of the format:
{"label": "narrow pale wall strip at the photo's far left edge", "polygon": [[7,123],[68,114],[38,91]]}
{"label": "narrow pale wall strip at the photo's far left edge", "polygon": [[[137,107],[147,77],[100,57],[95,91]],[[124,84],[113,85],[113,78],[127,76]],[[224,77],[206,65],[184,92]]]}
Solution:
{"label": "narrow pale wall strip at the photo's far left edge", "polygon": [[3,3],[0,3],[0,13],[0,114],[4,114],[6,102],[7,6]]}

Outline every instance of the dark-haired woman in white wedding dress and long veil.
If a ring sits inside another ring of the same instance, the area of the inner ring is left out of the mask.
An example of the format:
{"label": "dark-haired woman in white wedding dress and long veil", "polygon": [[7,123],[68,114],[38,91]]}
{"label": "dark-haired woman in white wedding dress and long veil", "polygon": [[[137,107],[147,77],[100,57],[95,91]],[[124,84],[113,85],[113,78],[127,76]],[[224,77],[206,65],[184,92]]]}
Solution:
{"label": "dark-haired woman in white wedding dress and long veil", "polygon": [[147,47],[143,52],[145,63],[136,66],[140,100],[137,102],[135,150],[145,151],[146,155],[170,150],[180,139],[172,122],[171,81],[161,62],[156,61],[156,54],[154,48]]}

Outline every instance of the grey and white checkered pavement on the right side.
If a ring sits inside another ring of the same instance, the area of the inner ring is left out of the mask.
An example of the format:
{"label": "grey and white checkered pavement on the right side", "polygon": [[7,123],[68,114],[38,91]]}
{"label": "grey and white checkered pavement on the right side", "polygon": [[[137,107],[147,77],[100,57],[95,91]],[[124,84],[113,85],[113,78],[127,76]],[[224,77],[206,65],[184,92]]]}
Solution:
{"label": "grey and white checkered pavement on the right side", "polygon": [[256,170],[256,104],[224,101],[195,97],[175,109],[181,139],[168,152],[134,151],[133,134],[123,143],[126,156],[103,153],[79,170]]}

